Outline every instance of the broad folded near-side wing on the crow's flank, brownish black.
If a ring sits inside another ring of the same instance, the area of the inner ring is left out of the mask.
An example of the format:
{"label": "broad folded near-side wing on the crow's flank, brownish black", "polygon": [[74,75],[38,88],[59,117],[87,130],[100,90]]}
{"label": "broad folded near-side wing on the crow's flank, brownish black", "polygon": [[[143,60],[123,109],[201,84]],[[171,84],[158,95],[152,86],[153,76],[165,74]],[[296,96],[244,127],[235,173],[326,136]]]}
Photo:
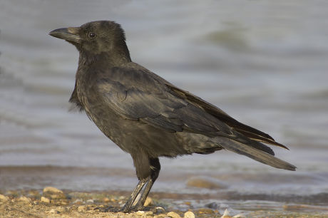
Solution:
{"label": "broad folded near-side wing on the crow's flank, brownish black", "polygon": [[106,105],[123,118],[140,120],[170,132],[231,134],[225,123],[170,93],[164,80],[145,68],[111,68],[110,71],[98,78],[96,88]]}

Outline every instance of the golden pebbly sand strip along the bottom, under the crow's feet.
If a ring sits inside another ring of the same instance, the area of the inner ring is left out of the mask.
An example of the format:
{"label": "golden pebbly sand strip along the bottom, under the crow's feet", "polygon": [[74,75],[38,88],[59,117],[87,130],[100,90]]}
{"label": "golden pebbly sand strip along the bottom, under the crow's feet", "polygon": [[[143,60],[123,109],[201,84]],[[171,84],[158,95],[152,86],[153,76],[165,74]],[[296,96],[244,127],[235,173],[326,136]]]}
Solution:
{"label": "golden pebbly sand strip along the bottom, under the crow's feet", "polygon": [[[153,196],[161,197],[160,194]],[[0,217],[328,217],[328,207],[285,205],[282,211],[259,208],[240,214],[221,214],[217,209],[195,209],[188,200],[181,202],[189,209],[180,211],[174,209],[176,207],[167,198],[159,200],[150,197],[146,201],[145,211],[128,214],[103,211],[108,206],[120,207],[126,197],[127,192],[72,192],[54,187],[11,190],[0,194]]]}

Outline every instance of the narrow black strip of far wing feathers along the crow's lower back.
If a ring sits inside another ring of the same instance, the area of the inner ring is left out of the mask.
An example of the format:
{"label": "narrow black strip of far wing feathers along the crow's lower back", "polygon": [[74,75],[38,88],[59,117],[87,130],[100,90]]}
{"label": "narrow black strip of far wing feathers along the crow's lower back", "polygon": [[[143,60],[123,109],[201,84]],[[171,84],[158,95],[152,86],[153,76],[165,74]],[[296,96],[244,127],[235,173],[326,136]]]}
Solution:
{"label": "narrow black strip of far wing feathers along the crow's lower back", "polygon": [[227,115],[227,113],[225,113],[220,108],[215,107],[215,105],[212,105],[206,102],[205,100],[199,98],[198,96],[195,96],[185,90],[181,90],[175,85],[172,85],[170,83],[166,83],[166,85],[168,86],[168,88],[170,88],[171,92],[174,93],[175,95],[187,100],[189,103],[192,103],[200,108],[203,108],[203,110],[205,110],[207,113],[214,116],[218,120],[221,120],[223,123],[226,123],[230,127],[234,128],[234,130],[236,130],[237,132],[242,133],[242,135],[245,135],[246,137],[252,140],[256,140],[258,142],[265,142],[271,145],[277,145],[280,147],[284,147],[285,149],[288,150],[288,148],[285,145],[276,142],[267,133],[263,133],[260,130],[257,130],[248,125],[238,122],[234,118],[230,117],[230,115]]}

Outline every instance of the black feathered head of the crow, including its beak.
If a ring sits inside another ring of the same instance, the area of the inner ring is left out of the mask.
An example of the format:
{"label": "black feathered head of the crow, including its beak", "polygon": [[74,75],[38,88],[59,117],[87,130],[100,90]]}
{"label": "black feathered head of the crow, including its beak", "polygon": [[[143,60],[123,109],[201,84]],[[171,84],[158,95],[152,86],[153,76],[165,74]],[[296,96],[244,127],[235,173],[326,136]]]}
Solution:
{"label": "black feathered head of the crow, including its beak", "polygon": [[125,34],[120,24],[113,21],[93,21],[79,27],[57,28],[50,36],[72,43],[78,51],[92,54],[126,50]]}

